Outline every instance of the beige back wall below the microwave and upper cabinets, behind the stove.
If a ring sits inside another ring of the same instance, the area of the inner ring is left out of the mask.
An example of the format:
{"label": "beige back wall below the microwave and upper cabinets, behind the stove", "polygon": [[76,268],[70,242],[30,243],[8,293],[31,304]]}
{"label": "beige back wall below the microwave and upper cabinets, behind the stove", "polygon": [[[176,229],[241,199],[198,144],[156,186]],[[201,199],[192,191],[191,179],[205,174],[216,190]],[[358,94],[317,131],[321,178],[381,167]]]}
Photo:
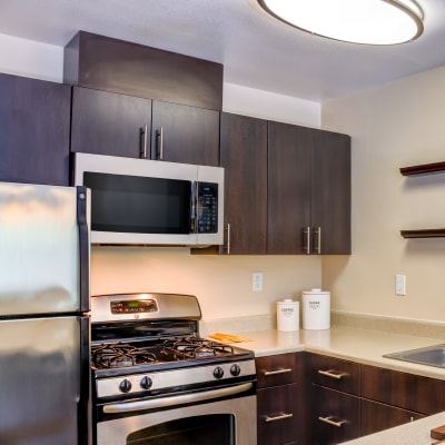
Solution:
{"label": "beige back wall below the microwave and upper cabinets, behind the stove", "polygon": [[[251,273],[264,290],[251,290]],[[196,295],[205,319],[274,314],[276,301],[319,286],[320,258],[202,256],[186,248],[93,247],[91,294],[159,291]]]}

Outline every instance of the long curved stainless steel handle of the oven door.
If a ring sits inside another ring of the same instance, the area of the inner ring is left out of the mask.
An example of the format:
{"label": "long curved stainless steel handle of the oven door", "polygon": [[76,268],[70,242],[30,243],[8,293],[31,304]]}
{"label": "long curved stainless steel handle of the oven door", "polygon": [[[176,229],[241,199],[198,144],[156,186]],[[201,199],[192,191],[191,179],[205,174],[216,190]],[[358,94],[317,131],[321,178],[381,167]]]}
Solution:
{"label": "long curved stainless steel handle of the oven door", "polygon": [[155,398],[151,400],[137,400],[137,402],[126,402],[119,404],[103,405],[103,413],[120,414],[120,413],[129,413],[132,411],[157,409],[157,408],[164,408],[166,406],[174,406],[185,403],[209,400],[211,398],[246,393],[253,387],[254,387],[253,383],[245,383],[237,386],[230,386],[220,389],[211,389],[202,393],[180,394],[176,396]]}

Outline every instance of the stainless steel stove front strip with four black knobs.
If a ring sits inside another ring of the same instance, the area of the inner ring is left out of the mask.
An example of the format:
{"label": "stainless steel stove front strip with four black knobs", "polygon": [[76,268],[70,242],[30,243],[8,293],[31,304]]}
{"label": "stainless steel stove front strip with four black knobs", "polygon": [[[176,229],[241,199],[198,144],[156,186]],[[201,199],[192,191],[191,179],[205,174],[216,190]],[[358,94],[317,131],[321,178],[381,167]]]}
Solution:
{"label": "stainless steel stove front strip with four black knobs", "polygon": [[256,375],[255,359],[212,364],[189,368],[159,370],[119,377],[99,378],[96,382],[97,396],[112,397],[122,394],[158,392],[187,385],[199,385],[216,380]]}

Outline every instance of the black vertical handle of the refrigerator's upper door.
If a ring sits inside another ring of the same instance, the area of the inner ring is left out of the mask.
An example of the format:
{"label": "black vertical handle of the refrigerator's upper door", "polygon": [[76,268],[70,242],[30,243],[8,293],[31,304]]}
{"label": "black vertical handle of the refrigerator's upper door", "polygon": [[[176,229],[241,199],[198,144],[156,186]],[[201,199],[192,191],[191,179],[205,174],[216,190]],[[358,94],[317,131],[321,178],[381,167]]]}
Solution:
{"label": "black vertical handle of the refrigerator's upper door", "polygon": [[90,310],[90,237],[88,225],[89,189],[77,187],[77,222],[79,228],[79,309]]}

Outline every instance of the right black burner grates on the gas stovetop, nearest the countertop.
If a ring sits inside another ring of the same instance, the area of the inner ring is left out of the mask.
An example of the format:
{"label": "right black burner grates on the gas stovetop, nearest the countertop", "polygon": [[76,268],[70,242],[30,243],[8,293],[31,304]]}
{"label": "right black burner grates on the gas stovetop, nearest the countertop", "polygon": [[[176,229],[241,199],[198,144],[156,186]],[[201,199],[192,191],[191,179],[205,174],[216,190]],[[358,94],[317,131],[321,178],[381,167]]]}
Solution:
{"label": "right black burner grates on the gas stovetop, nearest the countertop", "polygon": [[200,337],[174,338],[164,342],[164,354],[174,354],[176,359],[216,357],[234,354],[234,348]]}

